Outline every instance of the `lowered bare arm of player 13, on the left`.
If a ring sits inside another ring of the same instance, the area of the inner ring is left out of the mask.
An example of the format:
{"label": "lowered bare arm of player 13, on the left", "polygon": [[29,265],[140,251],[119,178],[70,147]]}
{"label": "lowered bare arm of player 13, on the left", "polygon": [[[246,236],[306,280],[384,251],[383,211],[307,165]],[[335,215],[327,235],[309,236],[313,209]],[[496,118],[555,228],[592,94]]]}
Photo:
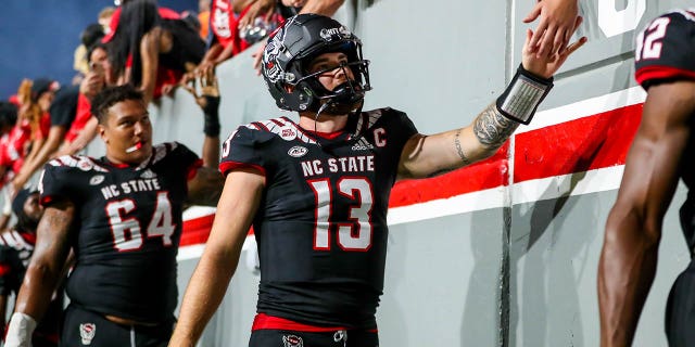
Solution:
{"label": "lowered bare arm of player 13, on the left", "polygon": [[193,347],[229,285],[258,208],[265,177],[253,169],[230,172],[217,205],[205,252],[184,295],[169,346]]}

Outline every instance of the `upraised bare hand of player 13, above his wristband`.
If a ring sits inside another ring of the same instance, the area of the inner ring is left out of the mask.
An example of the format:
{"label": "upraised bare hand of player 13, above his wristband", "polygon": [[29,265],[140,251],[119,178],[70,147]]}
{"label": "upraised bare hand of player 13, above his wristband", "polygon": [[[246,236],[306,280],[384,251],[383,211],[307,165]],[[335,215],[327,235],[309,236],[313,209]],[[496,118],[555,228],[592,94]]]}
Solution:
{"label": "upraised bare hand of player 13, above his wristband", "polygon": [[[578,16],[574,21],[574,27],[570,31],[570,36],[577,30],[581,23],[582,17]],[[586,42],[586,37],[581,37],[560,53],[539,55],[539,48],[532,43],[533,30],[528,29],[526,34],[526,43],[523,43],[523,51],[521,52],[521,64],[528,72],[543,78],[553,77],[565,61],[567,61],[567,57]]]}

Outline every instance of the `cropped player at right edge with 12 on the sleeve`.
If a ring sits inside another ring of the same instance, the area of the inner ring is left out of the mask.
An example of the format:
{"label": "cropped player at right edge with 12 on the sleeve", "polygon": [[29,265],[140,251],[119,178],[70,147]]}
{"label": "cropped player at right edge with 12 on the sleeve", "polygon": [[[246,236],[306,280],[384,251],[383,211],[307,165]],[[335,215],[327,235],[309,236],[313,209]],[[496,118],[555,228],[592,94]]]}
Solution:
{"label": "cropped player at right edge with 12 on the sleeve", "polygon": [[[681,226],[695,247],[695,9],[666,13],[636,38],[635,77],[647,91],[628,152],[618,198],[608,215],[598,265],[601,345],[630,346],[656,272],[661,227],[679,179],[690,189]],[[695,346],[695,262],[668,300],[669,346]]]}

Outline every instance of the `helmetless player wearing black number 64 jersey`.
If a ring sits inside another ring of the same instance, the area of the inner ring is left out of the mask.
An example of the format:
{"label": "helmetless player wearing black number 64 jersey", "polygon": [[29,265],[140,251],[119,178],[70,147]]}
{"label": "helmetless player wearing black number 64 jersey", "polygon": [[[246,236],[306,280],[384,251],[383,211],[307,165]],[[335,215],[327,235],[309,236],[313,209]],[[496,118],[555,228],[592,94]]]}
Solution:
{"label": "helmetless player wearing black number 64 jersey", "polygon": [[45,166],[45,213],[5,346],[29,346],[71,247],[76,264],[66,282],[71,304],[61,345],[166,344],[178,300],[184,204],[214,205],[223,187],[214,75],[203,91],[202,160],[181,143],[152,144],[147,104],[132,87],[106,88],[94,98],[106,155],[66,155]]}

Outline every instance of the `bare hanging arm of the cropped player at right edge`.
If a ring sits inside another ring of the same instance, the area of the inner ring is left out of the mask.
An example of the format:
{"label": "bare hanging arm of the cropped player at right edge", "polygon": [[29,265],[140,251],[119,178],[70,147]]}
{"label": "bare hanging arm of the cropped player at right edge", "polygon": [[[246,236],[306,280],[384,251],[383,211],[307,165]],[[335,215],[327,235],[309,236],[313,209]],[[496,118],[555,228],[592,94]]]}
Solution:
{"label": "bare hanging arm of the cropped player at right edge", "polygon": [[601,345],[630,346],[656,272],[664,215],[692,136],[695,81],[649,88],[606,222],[598,264]]}

